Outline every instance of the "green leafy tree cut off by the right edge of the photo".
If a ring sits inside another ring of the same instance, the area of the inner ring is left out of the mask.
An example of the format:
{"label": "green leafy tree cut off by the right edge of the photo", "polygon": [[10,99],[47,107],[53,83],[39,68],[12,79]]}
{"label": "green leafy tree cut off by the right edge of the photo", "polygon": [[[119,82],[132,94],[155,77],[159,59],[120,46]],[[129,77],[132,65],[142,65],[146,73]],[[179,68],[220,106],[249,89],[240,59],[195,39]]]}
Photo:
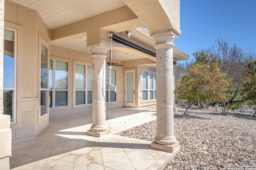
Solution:
{"label": "green leafy tree cut off by the right edge of the photo", "polygon": [[[244,100],[256,104],[256,59],[250,58],[246,64],[246,70],[242,72],[241,94]],[[256,110],[254,116],[256,115]]]}

